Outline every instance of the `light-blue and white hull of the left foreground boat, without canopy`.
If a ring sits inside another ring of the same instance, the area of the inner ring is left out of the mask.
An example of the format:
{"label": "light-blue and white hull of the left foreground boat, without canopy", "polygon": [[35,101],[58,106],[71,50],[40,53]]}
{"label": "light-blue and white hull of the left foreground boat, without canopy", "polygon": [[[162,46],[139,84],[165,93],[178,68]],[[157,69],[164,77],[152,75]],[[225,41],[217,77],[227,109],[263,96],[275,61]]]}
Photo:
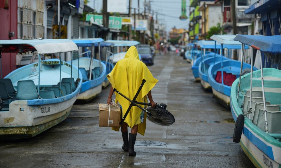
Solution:
{"label": "light-blue and white hull of the left foreground boat, without canopy", "polygon": [[[57,63],[59,63],[58,59],[43,62],[40,88],[41,86],[57,84],[59,77],[55,75],[59,74],[60,69]],[[8,74],[5,78],[10,78],[14,87],[17,88],[17,81],[26,80],[26,76],[30,76],[30,67],[36,67],[36,65],[38,63],[21,67]],[[71,67],[64,61],[62,61],[61,65],[63,70],[62,78],[70,77],[71,68],[72,71],[78,71],[76,67]],[[37,72],[35,71],[34,73],[36,74]],[[78,74],[81,77],[81,73],[75,73],[73,77],[77,78],[76,75]],[[53,77],[54,81],[50,80],[50,76]],[[49,83],[47,84],[44,79],[48,80]],[[34,83],[37,84],[38,78],[34,80]],[[58,98],[14,100],[10,102],[9,109],[0,112],[0,140],[33,137],[62,122],[70,114],[70,109],[79,95],[81,85],[82,81],[79,81],[77,88],[72,93]]]}

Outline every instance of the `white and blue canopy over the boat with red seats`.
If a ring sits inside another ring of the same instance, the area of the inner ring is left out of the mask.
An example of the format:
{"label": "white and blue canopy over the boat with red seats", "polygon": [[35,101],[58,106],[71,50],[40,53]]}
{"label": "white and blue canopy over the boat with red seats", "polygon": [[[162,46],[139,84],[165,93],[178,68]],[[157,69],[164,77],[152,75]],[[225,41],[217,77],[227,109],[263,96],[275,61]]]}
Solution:
{"label": "white and blue canopy over the boat with red seats", "polygon": [[[234,41],[236,35],[212,35],[211,39],[223,44],[223,48],[227,49],[241,49],[241,43]],[[249,49],[249,46],[245,45],[245,49]]]}

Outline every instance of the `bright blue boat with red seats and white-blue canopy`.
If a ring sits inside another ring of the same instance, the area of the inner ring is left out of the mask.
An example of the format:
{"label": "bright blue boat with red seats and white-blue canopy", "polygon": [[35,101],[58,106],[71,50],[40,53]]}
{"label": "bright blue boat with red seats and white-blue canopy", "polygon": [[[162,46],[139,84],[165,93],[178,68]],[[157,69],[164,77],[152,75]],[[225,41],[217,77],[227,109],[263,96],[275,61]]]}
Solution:
{"label": "bright blue boat with red seats and white-blue canopy", "polygon": [[[213,35],[211,39],[221,44],[227,49],[241,49],[241,43],[233,41],[236,35]],[[249,48],[245,46],[245,48]],[[242,52],[241,52],[242,53]],[[213,95],[218,102],[230,109],[230,89],[233,81],[240,75],[240,61],[221,59],[221,62],[214,62],[208,69],[208,81],[212,87]],[[244,63],[243,72],[249,72],[250,64]],[[253,67],[257,70],[256,67]]]}

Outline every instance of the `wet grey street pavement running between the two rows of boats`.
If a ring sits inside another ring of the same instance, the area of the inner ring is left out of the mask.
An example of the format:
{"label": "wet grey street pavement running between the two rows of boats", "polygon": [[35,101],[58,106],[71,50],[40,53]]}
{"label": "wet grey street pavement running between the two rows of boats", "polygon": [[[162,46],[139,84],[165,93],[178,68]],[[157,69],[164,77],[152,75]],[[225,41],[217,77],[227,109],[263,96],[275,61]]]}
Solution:
{"label": "wet grey street pavement running between the two rows of boats", "polygon": [[183,57],[157,55],[148,67],[159,80],[154,101],[167,104],[176,122],[147,121],[145,136],[138,134],[136,142],[161,146],[135,146],[131,157],[122,150],[121,131],[99,127],[98,103],[106,103],[107,87],[89,103],[74,105],[66,120],[47,131],[0,142],[0,167],[254,167],[240,144],[232,142],[230,110],[194,81]]}

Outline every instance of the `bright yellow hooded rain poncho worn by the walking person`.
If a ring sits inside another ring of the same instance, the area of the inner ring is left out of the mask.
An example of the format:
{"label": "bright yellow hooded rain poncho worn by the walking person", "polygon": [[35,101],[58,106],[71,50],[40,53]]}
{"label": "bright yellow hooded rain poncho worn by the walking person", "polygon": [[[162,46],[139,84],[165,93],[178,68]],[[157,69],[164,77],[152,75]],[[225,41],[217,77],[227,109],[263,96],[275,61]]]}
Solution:
{"label": "bright yellow hooded rain poncho worn by the walking person", "polygon": [[[113,88],[116,88],[120,93],[127,96],[130,100],[132,100],[140,87],[143,79],[146,80],[143,88],[136,101],[138,102],[146,102],[146,95],[158,82],[155,79],[151,72],[148,70],[147,66],[139,60],[138,51],[135,46],[131,46],[127,51],[124,59],[119,60],[114,66],[113,70],[110,74],[107,75],[108,80],[110,81]],[[122,117],[125,115],[129,105],[131,102],[123,98],[121,95],[116,94],[116,103],[119,102],[123,109]],[[143,107],[143,105],[140,105]],[[144,115],[143,123],[140,122],[140,113],[141,109],[133,106],[125,118],[125,123],[128,124],[129,127],[133,127],[134,125],[138,125],[138,133],[144,135],[145,127],[146,127],[146,114]],[[119,127],[120,128],[120,127]],[[119,128],[113,127],[113,130],[119,131]]]}

